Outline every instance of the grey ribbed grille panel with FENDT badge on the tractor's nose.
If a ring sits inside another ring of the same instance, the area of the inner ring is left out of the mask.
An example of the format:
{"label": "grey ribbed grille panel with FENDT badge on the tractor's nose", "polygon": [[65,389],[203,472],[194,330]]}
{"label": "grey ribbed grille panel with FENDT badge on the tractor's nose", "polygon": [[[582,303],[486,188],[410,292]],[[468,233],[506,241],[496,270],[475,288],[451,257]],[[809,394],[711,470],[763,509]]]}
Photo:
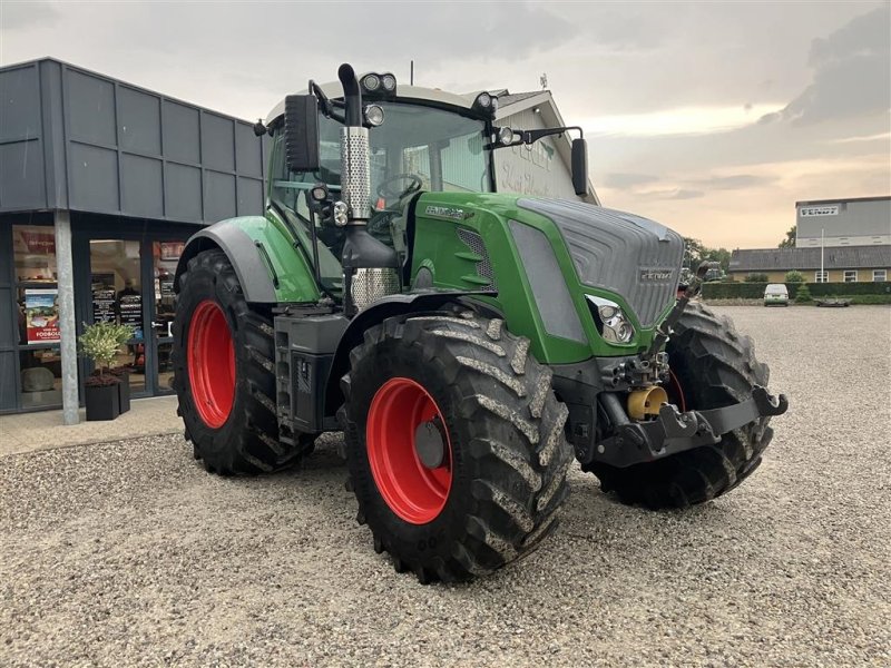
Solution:
{"label": "grey ribbed grille panel with FENDT badge on the tractor's nose", "polygon": [[552,220],[579,281],[625,297],[643,326],[655,324],[674,299],[684,258],[684,239],[676,232],[578,202],[522,198],[517,206]]}

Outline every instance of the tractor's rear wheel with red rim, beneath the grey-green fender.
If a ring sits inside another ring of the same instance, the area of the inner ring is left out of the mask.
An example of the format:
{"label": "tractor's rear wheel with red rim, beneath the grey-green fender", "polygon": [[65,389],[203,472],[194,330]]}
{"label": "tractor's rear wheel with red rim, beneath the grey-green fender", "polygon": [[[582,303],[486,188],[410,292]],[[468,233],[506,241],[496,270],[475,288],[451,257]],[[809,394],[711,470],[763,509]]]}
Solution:
{"label": "tractor's rear wheel with red rim, beneath the grey-green fender", "polygon": [[[272,315],[245,301],[222,250],[204,250],[188,262],[173,332],[174,389],[195,459],[221,475],[268,473],[296,463],[311,441],[278,441]],[[219,350],[226,337],[231,353]],[[228,364],[232,375],[219,371]]]}

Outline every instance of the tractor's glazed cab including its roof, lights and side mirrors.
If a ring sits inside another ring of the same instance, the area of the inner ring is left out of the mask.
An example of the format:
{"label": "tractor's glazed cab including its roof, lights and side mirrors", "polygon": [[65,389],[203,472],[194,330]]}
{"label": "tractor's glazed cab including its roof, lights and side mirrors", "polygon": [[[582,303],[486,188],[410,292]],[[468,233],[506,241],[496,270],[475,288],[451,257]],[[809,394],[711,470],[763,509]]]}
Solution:
{"label": "tractor's glazed cab including its roof, lights and side mirrors", "polygon": [[[358,85],[360,102],[353,100],[353,106],[361,111],[358,120],[366,130],[368,143],[368,174],[359,179],[368,181],[368,203],[359,207],[365,209],[359,216],[351,210],[350,194],[343,189],[342,169],[365,160],[361,155],[343,160],[347,105],[341,82],[311,81],[309,94],[290,96],[273,109],[265,125],[256,126],[258,134],[268,131],[272,137],[267,215],[296,228],[316,266],[319,284],[335,297],[343,294],[343,252],[351,215],[363,222],[372,238],[394,250],[391,264],[404,264],[413,205],[421,193],[492,193],[495,149],[578,129],[532,134],[495,127],[498,98],[486,91],[462,96],[396,86],[390,73],[366,73],[358,78]],[[288,99],[309,99],[309,104],[295,105],[298,114],[288,116]],[[317,148],[312,164],[288,160],[288,134],[304,149],[310,145]],[[584,140],[577,139],[572,161],[579,193],[587,190],[584,154]],[[345,215],[337,214],[341,203],[347,205]]]}

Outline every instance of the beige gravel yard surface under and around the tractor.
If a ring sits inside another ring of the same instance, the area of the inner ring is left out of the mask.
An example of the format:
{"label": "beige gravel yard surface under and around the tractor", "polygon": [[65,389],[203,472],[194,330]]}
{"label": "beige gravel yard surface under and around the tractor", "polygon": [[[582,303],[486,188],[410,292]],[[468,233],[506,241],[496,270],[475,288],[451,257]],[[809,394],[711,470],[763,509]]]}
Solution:
{"label": "beige gravel yard surface under and around the tractor", "polygon": [[558,531],[470,584],[371,549],[335,435],[207,475],[179,436],[0,459],[0,665],[891,664],[891,308],[725,308],[792,407],[687,512],[570,473]]}

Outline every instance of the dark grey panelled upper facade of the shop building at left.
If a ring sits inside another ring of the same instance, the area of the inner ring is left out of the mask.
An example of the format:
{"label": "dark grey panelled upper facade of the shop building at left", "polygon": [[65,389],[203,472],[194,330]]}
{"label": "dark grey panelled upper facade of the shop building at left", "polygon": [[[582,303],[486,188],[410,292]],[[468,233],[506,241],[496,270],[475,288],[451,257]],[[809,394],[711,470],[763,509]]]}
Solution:
{"label": "dark grey panelled upper facade of the shop building at left", "polygon": [[0,68],[0,210],[209,224],[261,214],[249,122],[52,59]]}

